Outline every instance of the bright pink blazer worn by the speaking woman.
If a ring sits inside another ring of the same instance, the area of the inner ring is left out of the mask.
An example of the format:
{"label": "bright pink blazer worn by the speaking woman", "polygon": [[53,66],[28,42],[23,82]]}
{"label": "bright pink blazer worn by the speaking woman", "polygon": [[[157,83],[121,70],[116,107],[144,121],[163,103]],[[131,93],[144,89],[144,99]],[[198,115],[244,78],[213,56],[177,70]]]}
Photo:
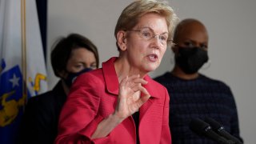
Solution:
{"label": "bright pink blazer worn by the speaking woman", "polygon": [[[136,128],[130,116],[105,138],[90,139],[98,123],[114,112],[118,99],[118,77],[114,60],[102,63],[102,69],[79,76],[63,106],[56,143],[136,143]],[[139,110],[141,144],[170,144],[169,95],[166,88],[149,76],[144,86],[150,99]]]}

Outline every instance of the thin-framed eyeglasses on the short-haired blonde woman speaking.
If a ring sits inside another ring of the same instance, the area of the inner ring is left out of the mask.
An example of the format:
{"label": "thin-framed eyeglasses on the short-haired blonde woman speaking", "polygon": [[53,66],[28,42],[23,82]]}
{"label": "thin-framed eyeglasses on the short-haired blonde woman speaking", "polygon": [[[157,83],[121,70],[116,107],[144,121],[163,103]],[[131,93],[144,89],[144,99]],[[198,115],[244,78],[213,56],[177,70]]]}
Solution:
{"label": "thin-framed eyeglasses on the short-haired blonde woman speaking", "polygon": [[172,40],[168,39],[167,32],[162,34],[155,34],[154,31],[149,27],[144,27],[141,30],[130,30],[130,31],[138,32],[139,36],[145,41],[149,41],[152,38],[158,38],[162,46],[166,46],[167,42],[172,42]]}

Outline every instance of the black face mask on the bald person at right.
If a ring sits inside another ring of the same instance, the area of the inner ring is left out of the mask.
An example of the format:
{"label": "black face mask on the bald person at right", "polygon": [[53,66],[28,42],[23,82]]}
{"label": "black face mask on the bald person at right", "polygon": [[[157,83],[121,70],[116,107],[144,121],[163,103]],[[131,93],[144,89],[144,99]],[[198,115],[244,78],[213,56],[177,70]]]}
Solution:
{"label": "black face mask on the bald person at right", "polygon": [[202,48],[178,47],[175,62],[186,74],[194,74],[208,61],[208,54]]}

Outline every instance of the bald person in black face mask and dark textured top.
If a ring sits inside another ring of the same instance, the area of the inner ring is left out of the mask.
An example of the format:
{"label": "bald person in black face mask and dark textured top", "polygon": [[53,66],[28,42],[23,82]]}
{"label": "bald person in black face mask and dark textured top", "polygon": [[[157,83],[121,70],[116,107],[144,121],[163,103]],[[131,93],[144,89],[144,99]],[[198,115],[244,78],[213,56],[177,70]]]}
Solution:
{"label": "bald person in black face mask and dark textured top", "polygon": [[234,96],[224,82],[208,78],[198,70],[208,61],[206,27],[196,19],[185,19],[174,30],[175,65],[171,72],[154,78],[170,95],[172,143],[215,143],[190,130],[193,118],[210,117],[242,140]]}

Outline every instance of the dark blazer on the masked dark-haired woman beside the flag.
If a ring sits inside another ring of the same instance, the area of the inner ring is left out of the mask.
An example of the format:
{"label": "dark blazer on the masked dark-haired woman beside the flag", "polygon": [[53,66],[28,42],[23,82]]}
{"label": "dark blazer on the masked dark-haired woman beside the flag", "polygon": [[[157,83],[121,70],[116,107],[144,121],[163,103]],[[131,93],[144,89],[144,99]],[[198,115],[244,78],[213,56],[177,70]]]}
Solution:
{"label": "dark blazer on the masked dark-haired woman beside the flag", "polygon": [[66,94],[61,81],[53,90],[30,98],[22,116],[18,143],[54,143],[64,102]]}

